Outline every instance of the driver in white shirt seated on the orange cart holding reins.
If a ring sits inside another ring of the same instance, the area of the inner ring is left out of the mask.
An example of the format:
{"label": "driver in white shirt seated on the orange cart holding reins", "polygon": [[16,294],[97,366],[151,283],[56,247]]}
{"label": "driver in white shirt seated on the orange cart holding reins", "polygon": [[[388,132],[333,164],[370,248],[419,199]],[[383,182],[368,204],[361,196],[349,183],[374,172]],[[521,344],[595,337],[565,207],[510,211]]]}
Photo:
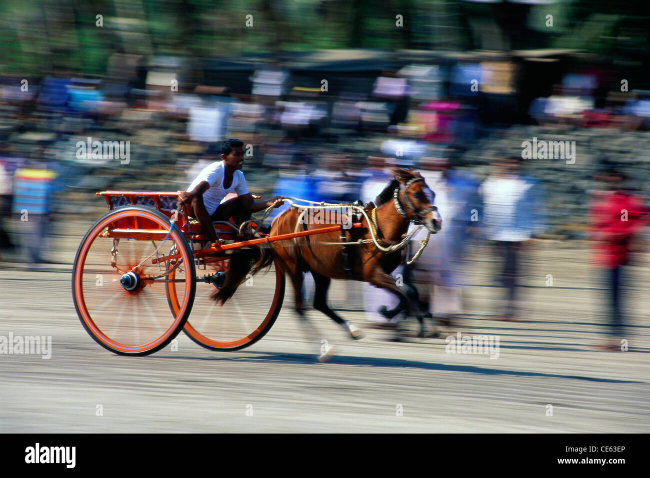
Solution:
{"label": "driver in white shirt seated on the orange cart holding reins", "polygon": [[[187,205],[190,214],[194,213],[194,217],[201,223],[212,242],[217,240],[213,221],[227,221],[233,218],[237,224],[241,224],[249,220],[253,212],[281,206],[284,199],[282,196],[276,196],[260,203],[253,201],[241,171],[244,167],[244,143],[241,140],[224,140],[221,143],[221,158],[222,160],[203,168],[187,191],[179,194],[178,200],[179,206]],[[230,193],[237,194],[237,197],[222,202]],[[263,229],[262,231],[267,232]]]}

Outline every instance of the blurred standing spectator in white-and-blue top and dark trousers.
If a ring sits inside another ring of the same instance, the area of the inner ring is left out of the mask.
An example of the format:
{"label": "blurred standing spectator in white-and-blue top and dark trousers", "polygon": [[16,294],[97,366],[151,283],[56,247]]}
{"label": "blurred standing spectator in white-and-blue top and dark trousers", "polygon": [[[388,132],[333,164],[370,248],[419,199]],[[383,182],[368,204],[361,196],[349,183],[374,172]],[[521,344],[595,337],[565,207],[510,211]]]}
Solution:
{"label": "blurred standing spectator in white-and-blue top and dark trousers", "polygon": [[518,156],[493,159],[491,173],[479,188],[486,238],[503,260],[499,281],[507,292],[502,320],[521,320],[517,301],[521,247],[543,229],[540,187],[536,180],[521,175],[522,161]]}

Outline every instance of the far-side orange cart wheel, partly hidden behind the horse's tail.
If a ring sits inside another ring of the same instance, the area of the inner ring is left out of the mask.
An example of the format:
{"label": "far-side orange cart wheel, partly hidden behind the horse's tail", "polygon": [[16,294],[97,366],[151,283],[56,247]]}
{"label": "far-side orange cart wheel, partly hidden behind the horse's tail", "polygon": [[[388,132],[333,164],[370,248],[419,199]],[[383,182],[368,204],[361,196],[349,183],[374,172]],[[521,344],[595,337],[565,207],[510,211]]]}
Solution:
{"label": "far-side orange cart wheel, partly hidden behind the horse's tail", "polygon": [[[229,258],[206,258],[206,270],[201,275],[211,275],[226,270]],[[175,270],[170,272],[173,279]],[[173,314],[179,308],[179,291],[176,282],[168,282],[168,300]],[[233,351],[248,347],[261,339],[271,329],[284,300],[285,277],[276,262],[268,270],[244,279],[237,292],[223,305],[211,299],[216,290],[212,283],[198,281],[192,320],[183,331],[200,346],[211,350]]]}

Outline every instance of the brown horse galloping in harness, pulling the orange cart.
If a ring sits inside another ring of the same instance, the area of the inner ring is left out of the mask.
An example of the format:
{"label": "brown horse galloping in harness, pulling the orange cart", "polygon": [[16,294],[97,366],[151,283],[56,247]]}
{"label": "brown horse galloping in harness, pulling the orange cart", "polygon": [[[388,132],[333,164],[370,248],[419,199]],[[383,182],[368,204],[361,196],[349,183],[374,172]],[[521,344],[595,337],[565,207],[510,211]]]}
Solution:
{"label": "brown horse galloping in harness, pulling the orange cart", "polygon": [[[421,223],[432,234],[437,233],[441,228],[442,220],[437,208],[430,203],[425,194],[424,188],[428,188],[428,186],[424,182],[422,175],[415,171],[400,168],[393,168],[393,174],[395,175],[395,181],[391,182],[378,196],[378,202],[388,199],[389,196],[393,196],[393,200],[383,202],[376,207],[375,211],[376,222],[374,227],[380,244],[385,247],[389,244],[401,242],[404,234],[408,231],[411,221]],[[367,208],[369,213],[371,209],[372,207]],[[347,219],[342,217],[341,214],[331,214],[330,212],[320,214],[320,218],[322,219],[322,216],[324,216],[325,220],[314,220],[319,216],[320,212],[325,211],[312,210],[308,215],[305,215],[307,220],[305,220],[305,217],[301,220],[301,211],[298,208],[288,209],[279,214],[273,221],[270,236],[294,233],[298,221],[300,221],[298,230],[319,229],[329,227],[332,224],[347,222]],[[369,217],[372,217],[371,214],[369,214]],[[361,338],[358,329],[354,326],[350,327],[343,318],[328,307],[327,292],[331,279],[363,281],[389,290],[398,297],[400,303],[406,303],[408,312],[415,315],[423,327],[423,312],[419,304],[412,299],[412,294],[409,293],[408,288],[396,283],[395,279],[390,275],[400,264],[402,251],[387,253],[376,247],[373,242],[343,247],[341,234],[344,234],[346,242],[371,238],[370,225],[365,218],[363,218],[362,223],[363,227],[358,229],[345,230],[342,228],[340,232],[335,231],[272,242],[270,249],[272,255],[268,254],[268,249],[263,249],[262,256],[257,260],[257,264],[253,266],[253,273],[270,264],[273,257],[275,257],[281,269],[291,279],[296,299],[296,312],[303,316],[303,273],[310,271],[315,283],[314,308],[341,325],[344,331],[355,339]],[[342,245],[323,244],[328,242]],[[349,255],[349,260],[344,258],[346,254]],[[241,262],[242,264],[250,264],[250,258]],[[244,269],[246,270],[243,275],[248,272],[248,267],[244,266]],[[238,272],[237,276],[239,275]],[[231,296],[233,291],[236,290],[240,280],[241,278],[235,277],[233,273],[233,278],[229,277],[224,288],[215,292],[213,298],[221,301],[227,300],[227,297]]]}

